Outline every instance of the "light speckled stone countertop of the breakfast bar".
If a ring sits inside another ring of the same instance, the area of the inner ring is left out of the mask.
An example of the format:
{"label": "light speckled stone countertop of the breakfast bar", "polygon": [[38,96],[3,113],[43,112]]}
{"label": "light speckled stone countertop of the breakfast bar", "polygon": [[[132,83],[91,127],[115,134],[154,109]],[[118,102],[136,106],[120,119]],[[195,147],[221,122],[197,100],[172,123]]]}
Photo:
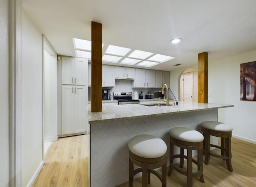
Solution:
{"label": "light speckled stone countertop of the breakfast bar", "polygon": [[[171,103],[170,103],[171,104]],[[233,107],[234,105],[215,103],[196,103],[180,101],[178,106],[145,106],[142,104],[106,105],[102,106],[101,112],[91,112],[87,107],[89,123],[101,123],[107,121],[118,121],[122,119],[135,119],[140,117],[151,117],[156,115],[168,115],[173,113],[185,113],[207,109],[218,109]]]}

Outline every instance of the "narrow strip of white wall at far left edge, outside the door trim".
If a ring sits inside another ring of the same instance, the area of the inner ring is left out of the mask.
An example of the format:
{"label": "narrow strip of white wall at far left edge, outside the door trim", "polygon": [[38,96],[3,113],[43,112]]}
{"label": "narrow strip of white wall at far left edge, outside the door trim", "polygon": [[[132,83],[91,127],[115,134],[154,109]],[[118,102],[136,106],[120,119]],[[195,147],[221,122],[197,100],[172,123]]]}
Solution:
{"label": "narrow strip of white wall at far left edge, outside the door trim", "polygon": [[0,186],[9,186],[8,0],[0,1]]}

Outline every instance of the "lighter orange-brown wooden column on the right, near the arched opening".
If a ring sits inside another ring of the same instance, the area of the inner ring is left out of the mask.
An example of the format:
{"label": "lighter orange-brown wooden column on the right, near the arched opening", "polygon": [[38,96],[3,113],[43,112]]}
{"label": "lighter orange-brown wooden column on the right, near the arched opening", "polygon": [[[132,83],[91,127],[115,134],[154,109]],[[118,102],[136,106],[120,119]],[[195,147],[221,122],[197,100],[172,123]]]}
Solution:
{"label": "lighter orange-brown wooden column on the right, near the arched opening", "polygon": [[198,103],[208,103],[208,53],[198,54]]}

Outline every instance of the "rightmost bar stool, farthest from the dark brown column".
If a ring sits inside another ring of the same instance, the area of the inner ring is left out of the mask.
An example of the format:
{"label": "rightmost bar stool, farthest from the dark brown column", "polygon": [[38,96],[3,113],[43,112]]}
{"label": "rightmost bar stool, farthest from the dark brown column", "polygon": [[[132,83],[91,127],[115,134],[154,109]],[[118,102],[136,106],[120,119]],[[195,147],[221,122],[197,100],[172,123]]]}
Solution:
{"label": "rightmost bar stool, farthest from the dark brown column", "polygon": [[[228,124],[218,121],[204,121],[201,123],[201,129],[204,135],[204,154],[206,165],[209,164],[210,155],[226,160],[226,165],[229,171],[233,171],[231,165],[231,137],[232,127]],[[210,144],[210,135],[220,137],[220,146]],[[210,147],[216,147],[221,150],[221,155],[216,155],[210,152]]]}

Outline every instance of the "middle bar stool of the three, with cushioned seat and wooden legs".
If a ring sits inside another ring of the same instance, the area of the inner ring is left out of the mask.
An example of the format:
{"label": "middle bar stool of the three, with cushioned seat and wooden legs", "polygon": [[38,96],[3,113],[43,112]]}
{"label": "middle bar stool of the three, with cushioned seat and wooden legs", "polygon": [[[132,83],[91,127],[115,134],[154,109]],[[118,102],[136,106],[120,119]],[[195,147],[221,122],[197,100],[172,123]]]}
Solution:
{"label": "middle bar stool of the three, with cushioned seat and wooden legs", "polygon": [[[204,136],[193,129],[186,127],[174,127],[170,129],[170,169],[168,176],[171,176],[173,169],[187,176],[187,185],[192,187],[192,177],[200,177],[204,183],[203,177],[203,141]],[[174,145],[180,147],[180,154],[174,155]],[[184,155],[184,149],[187,149],[187,155]],[[192,150],[198,152],[197,160],[192,157]],[[174,165],[173,160],[180,158],[180,165]],[[187,159],[187,169],[183,169],[184,158]],[[192,171],[192,163],[197,165],[196,172]]]}

